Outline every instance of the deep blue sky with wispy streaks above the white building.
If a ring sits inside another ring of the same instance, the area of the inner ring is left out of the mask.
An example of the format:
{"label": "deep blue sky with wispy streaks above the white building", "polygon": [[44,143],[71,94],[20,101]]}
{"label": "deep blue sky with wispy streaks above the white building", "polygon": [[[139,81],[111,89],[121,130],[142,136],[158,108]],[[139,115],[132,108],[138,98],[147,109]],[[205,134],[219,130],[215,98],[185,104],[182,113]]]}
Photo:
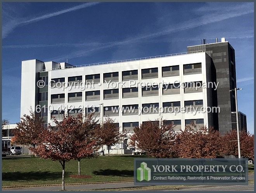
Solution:
{"label": "deep blue sky with wispy streaks above the white building", "polygon": [[225,37],[254,133],[254,3],[2,3],[2,118],[19,122],[21,61],[81,65],[186,52]]}

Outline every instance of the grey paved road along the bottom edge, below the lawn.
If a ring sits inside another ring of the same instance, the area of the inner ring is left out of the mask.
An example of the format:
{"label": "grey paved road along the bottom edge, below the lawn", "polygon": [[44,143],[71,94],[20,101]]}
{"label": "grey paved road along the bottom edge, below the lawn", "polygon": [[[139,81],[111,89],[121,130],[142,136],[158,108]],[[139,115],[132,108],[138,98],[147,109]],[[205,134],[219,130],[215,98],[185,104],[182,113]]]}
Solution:
{"label": "grey paved road along the bottom edge, below the lawn", "polygon": [[[254,175],[249,175],[249,180],[253,180]],[[127,187],[135,187],[133,182],[129,183],[109,183],[109,184],[87,184],[87,185],[76,185],[76,186],[65,186],[66,190],[93,190],[93,189],[105,189],[105,188],[127,188]],[[249,183],[248,186],[241,185],[232,185],[232,186],[187,186],[179,188],[178,191],[224,191],[224,190],[233,190],[233,191],[253,191],[254,183]],[[46,186],[46,187],[35,187],[35,188],[18,188],[18,189],[8,189],[3,191],[59,191],[61,190],[61,186]],[[147,189],[147,191],[171,191],[173,188],[161,188],[161,189]],[[137,190],[138,191],[138,190]],[[140,191],[145,191],[140,190]]]}

